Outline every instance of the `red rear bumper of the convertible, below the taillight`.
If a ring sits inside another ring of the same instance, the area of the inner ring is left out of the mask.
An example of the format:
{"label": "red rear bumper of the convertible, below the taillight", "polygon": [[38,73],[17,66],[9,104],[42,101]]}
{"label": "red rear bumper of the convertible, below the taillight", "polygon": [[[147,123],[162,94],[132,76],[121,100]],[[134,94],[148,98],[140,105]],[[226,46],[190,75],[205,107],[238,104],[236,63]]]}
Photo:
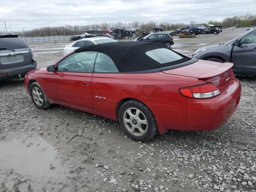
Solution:
{"label": "red rear bumper of the convertible, below the taillight", "polygon": [[188,100],[188,130],[213,130],[232,116],[241,96],[241,84],[233,80],[219,96],[205,100]]}

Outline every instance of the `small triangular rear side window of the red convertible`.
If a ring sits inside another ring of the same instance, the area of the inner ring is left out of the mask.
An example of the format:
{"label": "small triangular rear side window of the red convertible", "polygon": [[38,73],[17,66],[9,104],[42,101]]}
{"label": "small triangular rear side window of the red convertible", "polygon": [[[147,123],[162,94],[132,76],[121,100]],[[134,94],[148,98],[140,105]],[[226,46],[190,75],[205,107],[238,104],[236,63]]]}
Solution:
{"label": "small triangular rear side window of the red convertible", "polygon": [[112,59],[106,54],[98,52],[94,72],[119,72]]}

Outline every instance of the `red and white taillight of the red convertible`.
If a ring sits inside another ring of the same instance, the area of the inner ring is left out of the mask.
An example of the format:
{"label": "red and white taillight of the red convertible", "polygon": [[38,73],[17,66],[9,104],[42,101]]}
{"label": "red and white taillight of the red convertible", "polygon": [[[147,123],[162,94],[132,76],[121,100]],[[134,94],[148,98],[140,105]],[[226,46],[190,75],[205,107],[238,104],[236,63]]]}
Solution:
{"label": "red and white taillight of the red convertible", "polygon": [[179,91],[182,96],[192,99],[208,99],[220,94],[220,90],[212,83],[184,87]]}

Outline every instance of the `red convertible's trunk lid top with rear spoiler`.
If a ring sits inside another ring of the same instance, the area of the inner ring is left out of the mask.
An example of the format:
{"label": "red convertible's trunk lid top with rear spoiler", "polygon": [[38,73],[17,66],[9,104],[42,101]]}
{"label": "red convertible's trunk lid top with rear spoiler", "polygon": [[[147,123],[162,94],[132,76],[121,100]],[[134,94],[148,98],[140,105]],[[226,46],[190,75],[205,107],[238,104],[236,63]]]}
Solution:
{"label": "red convertible's trunk lid top with rear spoiler", "polygon": [[198,60],[197,62],[194,62],[190,65],[162,72],[166,74],[204,79],[223,73],[230,69],[232,66],[232,63],[219,63],[213,61]]}

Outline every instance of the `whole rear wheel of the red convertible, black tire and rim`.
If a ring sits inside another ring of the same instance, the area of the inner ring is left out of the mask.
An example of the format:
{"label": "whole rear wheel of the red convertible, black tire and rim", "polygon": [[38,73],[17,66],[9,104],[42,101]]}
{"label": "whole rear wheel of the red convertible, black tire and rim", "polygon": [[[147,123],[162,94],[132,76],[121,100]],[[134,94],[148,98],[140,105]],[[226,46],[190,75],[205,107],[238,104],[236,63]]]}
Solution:
{"label": "whole rear wheel of the red convertible, black tire and rim", "polygon": [[124,133],[136,141],[146,142],[158,132],[150,109],[138,100],[128,100],[119,110],[119,122]]}

